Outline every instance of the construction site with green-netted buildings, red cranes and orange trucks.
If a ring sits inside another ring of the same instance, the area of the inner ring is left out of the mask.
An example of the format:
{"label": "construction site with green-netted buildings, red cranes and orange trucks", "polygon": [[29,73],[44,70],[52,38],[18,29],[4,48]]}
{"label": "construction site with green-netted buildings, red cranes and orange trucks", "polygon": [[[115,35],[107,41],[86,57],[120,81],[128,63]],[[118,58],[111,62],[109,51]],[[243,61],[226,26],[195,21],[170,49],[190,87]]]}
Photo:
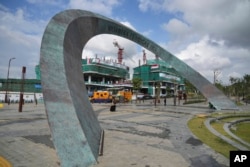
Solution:
{"label": "construction site with green-netted buildings, red cranes and orange trucks", "polygon": [[[118,49],[117,59],[107,59],[105,56],[82,59],[83,86],[88,92],[92,102],[111,102],[112,97],[119,97],[118,101],[132,100],[132,79],[141,79],[142,85],[139,93],[155,96],[174,95],[175,92],[185,91],[184,78],[182,78],[168,63],[159,59],[147,60],[143,50],[141,64],[133,68],[133,77],[130,78],[130,68],[123,61],[124,48],[117,41],[113,42]],[[36,79],[0,79],[0,101],[18,103],[20,92],[24,94],[25,102],[43,102],[40,65],[35,67]],[[108,91],[108,94],[105,93]],[[99,93],[94,93],[99,92]],[[130,92],[131,95],[127,92]],[[104,96],[105,94],[105,96]],[[102,96],[101,96],[102,95]],[[100,96],[100,97],[99,97]]]}

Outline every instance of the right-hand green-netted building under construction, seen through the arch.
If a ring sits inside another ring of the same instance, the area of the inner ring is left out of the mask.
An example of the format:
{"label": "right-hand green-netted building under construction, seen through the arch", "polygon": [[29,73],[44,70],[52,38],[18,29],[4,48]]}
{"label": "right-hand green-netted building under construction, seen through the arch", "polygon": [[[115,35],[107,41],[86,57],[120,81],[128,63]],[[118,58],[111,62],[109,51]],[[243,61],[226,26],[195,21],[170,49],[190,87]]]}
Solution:
{"label": "right-hand green-netted building under construction, seen through the arch", "polygon": [[139,65],[133,70],[133,78],[142,80],[142,93],[155,96],[157,87],[160,87],[160,95],[185,90],[184,78],[177,73],[174,67],[158,57],[146,60],[143,65]]}

